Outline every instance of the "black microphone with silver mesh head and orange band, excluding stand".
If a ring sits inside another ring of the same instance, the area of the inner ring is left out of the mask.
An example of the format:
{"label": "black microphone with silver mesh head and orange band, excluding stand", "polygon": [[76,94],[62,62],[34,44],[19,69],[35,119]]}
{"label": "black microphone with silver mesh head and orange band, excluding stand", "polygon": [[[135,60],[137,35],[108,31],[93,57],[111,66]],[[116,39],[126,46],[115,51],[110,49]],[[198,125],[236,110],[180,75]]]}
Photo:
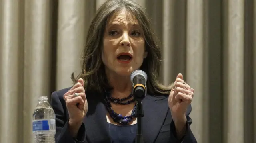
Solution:
{"label": "black microphone with silver mesh head and orange band, excluding stand", "polygon": [[146,82],[148,76],[146,72],[135,70],[132,72],[130,79],[132,82],[132,94],[134,95],[134,98],[142,100],[147,94]]}

